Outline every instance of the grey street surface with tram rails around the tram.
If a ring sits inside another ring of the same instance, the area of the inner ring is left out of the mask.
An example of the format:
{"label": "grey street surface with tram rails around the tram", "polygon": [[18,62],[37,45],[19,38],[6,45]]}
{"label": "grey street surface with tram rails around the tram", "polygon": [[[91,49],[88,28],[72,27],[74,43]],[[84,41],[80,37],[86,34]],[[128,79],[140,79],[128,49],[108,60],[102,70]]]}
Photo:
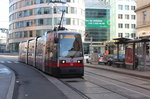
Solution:
{"label": "grey street surface with tram rails around the tram", "polygon": [[0,64],[15,72],[13,99],[150,99],[150,80],[85,67],[83,78],[55,78],[0,55]]}

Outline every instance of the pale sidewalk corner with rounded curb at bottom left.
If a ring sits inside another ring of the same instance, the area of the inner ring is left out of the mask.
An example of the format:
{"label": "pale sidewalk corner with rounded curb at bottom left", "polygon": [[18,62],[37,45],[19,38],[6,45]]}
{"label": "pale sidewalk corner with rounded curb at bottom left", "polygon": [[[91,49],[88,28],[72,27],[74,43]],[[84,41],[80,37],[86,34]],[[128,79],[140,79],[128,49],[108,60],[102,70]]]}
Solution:
{"label": "pale sidewalk corner with rounded curb at bottom left", "polygon": [[0,99],[12,99],[14,84],[14,72],[0,64]]}

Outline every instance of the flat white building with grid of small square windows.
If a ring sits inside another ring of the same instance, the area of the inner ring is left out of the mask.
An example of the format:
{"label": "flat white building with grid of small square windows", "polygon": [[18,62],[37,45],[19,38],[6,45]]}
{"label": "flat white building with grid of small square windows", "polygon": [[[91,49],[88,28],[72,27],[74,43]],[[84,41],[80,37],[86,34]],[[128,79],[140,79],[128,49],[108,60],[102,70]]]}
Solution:
{"label": "flat white building with grid of small square windows", "polygon": [[110,39],[135,38],[135,0],[110,0]]}

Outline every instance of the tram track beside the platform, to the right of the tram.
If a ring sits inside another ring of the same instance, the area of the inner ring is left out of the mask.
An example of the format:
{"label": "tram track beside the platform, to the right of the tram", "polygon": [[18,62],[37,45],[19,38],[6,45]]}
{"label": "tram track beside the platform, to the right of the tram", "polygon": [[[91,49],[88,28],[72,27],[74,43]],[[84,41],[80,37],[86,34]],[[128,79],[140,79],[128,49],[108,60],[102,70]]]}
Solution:
{"label": "tram track beside the platform, to the right of the tram", "polygon": [[[114,84],[113,82],[108,82],[107,80],[105,81],[105,80],[102,80],[102,79],[98,79],[97,77],[93,77],[93,75],[96,75],[96,76],[99,76],[99,77],[103,77],[103,78],[106,78],[106,79],[110,79],[110,80],[113,80],[113,81],[115,81],[115,82],[117,81],[117,82],[120,82],[120,83],[124,83],[124,84],[127,84],[128,86],[133,86],[133,87],[136,87],[136,88],[141,88],[142,90],[150,91],[150,89],[149,89],[149,88],[142,87],[142,86],[130,84],[130,83],[127,83],[127,82],[124,82],[124,81],[120,81],[120,80],[117,80],[117,79],[114,79],[114,78],[111,78],[111,77],[107,77],[107,76],[104,76],[104,75],[100,75],[100,74],[97,74],[97,73],[85,71],[85,78],[86,78],[87,81],[89,81],[89,82],[91,82],[91,83],[93,83],[93,84],[96,84],[96,85],[98,85],[98,86],[100,86],[100,87],[102,87],[102,88],[105,88],[105,89],[107,89],[107,90],[109,90],[109,91],[112,91],[112,92],[114,92],[114,93],[117,93],[117,94],[119,94],[119,95],[121,95],[121,96],[124,96],[124,97],[129,98],[129,99],[133,98],[132,96],[128,96],[127,94],[118,93],[118,92],[116,92],[114,89],[111,89],[110,87],[103,86],[103,84],[102,84],[102,85],[101,85],[101,84],[98,84],[98,83],[97,83],[98,81],[95,81],[95,82],[96,82],[96,83],[95,83],[93,79],[97,79],[97,80],[99,80],[99,81],[101,80],[101,81],[103,81],[103,82],[106,82],[106,83],[109,83],[109,84],[118,86],[119,88],[122,88],[122,89],[125,89],[125,90],[129,90],[129,91],[133,91],[134,93],[137,93],[137,94],[141,94],[141,95],[143,95],[143,96],[145,97],[144,99],[149,99],[149,98],[150,98],[149,94],[145,94],[145,93],[141,93],[141,92],[138,92],[138,91],[135,91],[135,90],[132,90],[132,89],[128,89],[128,88],[126,88],[126,87],[122,87],[122,86],[119,86],[119,85],[117,85],[117,84]],[[88,78],[90,78],[90,79],[88,79]],[[148,97],[148,98],[147,98],[147,97]]]}

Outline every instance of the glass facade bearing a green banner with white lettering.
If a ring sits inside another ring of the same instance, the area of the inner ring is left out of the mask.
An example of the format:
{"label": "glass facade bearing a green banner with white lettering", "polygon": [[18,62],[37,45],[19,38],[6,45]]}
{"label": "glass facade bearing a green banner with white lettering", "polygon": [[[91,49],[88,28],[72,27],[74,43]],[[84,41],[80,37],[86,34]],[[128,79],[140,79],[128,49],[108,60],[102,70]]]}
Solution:
{"label": "glass facade bearing a green banner with white lettering", "polygon": [[[86,37],[85,42],[90,41],[98,45],[100,41],[110,40],[110,10],[86,9]],[[84,44],[84,53],[89,53],[89,45]]]}

